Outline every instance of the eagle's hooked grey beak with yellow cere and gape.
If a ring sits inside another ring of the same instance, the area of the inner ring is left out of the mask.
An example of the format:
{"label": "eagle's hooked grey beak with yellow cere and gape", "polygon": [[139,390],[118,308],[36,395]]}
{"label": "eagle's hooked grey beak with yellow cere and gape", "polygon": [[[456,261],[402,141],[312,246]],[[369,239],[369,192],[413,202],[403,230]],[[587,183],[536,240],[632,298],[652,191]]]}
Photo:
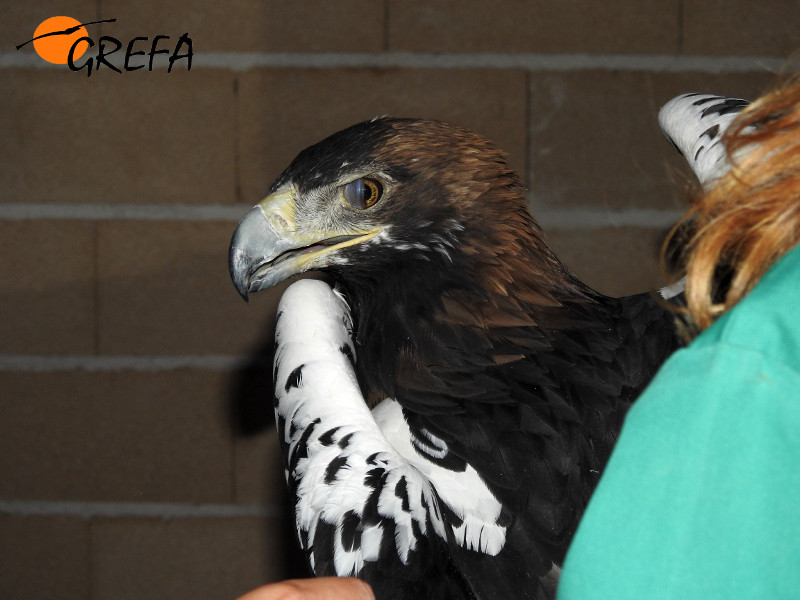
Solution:
{"label": "eagle's hooked grey beak with yellow cere and gape", "polygon": [[251,292],[327,266],[335,250],[366,241],[380,232],[299,231],[295,213],[294,189],[283,189],[250,209],[233,232],[228,268],[233,285],[245,300]]}

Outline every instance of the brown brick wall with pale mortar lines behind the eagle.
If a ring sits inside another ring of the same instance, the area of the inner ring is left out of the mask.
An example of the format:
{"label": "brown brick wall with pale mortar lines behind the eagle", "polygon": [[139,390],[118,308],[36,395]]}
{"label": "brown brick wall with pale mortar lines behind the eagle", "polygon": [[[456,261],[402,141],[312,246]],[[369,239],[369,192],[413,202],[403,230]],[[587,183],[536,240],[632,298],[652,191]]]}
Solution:
{"label": "brown brick wall with pale mortar lines behind the eagle", "polygon": [[[800,47],[777,0],[5,4],[3,598],[230,599],[300,573],[266,408],[280,291],[245,305],[226,265],[300,149],[380,114],[476,129],[576,272],[639,291],[688,180],[659,106],[754,96]],[[14,50],[59,14],[116,18],[90,35],[123,44],[188,32],[192,69]]]}

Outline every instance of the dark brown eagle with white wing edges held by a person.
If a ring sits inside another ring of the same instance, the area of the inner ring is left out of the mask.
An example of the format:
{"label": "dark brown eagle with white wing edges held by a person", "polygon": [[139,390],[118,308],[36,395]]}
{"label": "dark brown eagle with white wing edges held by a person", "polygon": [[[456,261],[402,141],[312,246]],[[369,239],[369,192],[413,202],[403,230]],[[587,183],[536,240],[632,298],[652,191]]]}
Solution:
{"label": "dark brown eagle with white wing edges held by a person", "polygon": [[[710,147],[726,101],[685,97],[671,139]],[[590,289],[503,153],[425,120],[374,119],[302,151],[229,260],[245,298],[309,270],[335,281],[291,286],[276,329],[277,425],[313,572],[359,576],[379,599],[554,596],[625,413],[678,346],[664,299]]]}

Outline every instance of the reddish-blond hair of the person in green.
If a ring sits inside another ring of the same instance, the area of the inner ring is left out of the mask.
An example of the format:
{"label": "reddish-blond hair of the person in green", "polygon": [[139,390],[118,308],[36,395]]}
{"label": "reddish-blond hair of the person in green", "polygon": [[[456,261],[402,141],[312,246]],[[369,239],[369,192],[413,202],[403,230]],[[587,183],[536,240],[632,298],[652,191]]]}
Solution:
{"label": "reddish-blond hair of the person in green", "polygon": [[665,242],[675,245],[681,231],[691,231],[677,245],[684,248],[686,312],[695,334],[800,242],[800,78],[742,111],[724,143],[731,170]]}

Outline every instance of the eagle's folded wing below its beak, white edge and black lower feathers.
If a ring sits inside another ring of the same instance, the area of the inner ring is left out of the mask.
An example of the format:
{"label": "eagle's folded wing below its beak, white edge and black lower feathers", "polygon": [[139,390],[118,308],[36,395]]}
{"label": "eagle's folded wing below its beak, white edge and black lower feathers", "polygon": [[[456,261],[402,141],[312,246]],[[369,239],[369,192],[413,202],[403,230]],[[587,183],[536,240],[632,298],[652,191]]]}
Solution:
{"label": "eagle's folded wing below its beak, white edge and black lower feathers", "polygon": [[321,281],[294,283],[281,298],[275,339],[275,416],[295,526],[314,573],[360,576],[378,597],[472,597],[459,577],[438,576],[458,571],[436,548],[452,523],[431,484],[435,466],[405,447],[408,426],[396,403],[387,400],[375,415],[367,408],[342,296]]}

